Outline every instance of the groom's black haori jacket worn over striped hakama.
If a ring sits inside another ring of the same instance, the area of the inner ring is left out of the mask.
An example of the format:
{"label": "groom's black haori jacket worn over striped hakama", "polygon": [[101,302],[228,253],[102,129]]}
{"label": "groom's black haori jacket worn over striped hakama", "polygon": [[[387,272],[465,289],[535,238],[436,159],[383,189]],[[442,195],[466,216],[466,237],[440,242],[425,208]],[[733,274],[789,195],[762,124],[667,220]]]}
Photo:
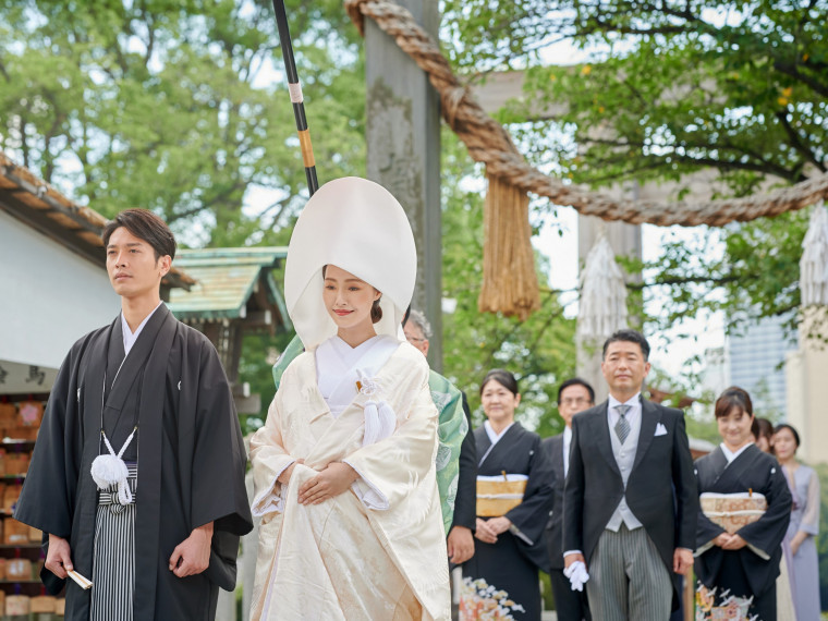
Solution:
{"label": "groom's black haori jacket worn over striped hakama", "polygon": [[[239,537],[253,526],[245,449],[227,377],[207,338],[165,305],[125,358],[123,351],[120,316],[71,349],[14,516],[68,539],[75,570],[90,577],[98,489],[89,470],[107,451],[101,428],[118,451],[137,425],[124,455],[138,464],[134,619],[212,619],[218,587],[235,586]],[[209,568],[176,577],[169,570],[173,549],[209,522]],[[41,577],[52,593],[65,582],[46,569]],[[69,581],[66,619],[88,619],[89,606],[89,592]]]}

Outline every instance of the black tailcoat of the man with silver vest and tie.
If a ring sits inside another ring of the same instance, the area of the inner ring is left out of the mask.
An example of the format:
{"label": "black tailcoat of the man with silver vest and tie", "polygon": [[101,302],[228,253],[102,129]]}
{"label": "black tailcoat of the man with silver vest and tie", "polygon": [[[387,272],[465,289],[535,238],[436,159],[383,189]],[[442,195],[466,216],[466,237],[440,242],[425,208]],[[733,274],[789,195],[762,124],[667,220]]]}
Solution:
{"label": "black tailcoat of the man with silver vest and tie", "polygon": [[[607,422],[608,402],[572,421],[572,448],[563,501],[563,549],[582,550],[587,569],[599,537],[621,499],[642,523],[667,567],[680,600],[680,577],[672,571],[675,548],[695,547],[698,496],[684,414],[642,400],[635,461],[624,491]],[[658,425],[666,433],[656,436]],[[592,596],[590,596],[592,597]]]}

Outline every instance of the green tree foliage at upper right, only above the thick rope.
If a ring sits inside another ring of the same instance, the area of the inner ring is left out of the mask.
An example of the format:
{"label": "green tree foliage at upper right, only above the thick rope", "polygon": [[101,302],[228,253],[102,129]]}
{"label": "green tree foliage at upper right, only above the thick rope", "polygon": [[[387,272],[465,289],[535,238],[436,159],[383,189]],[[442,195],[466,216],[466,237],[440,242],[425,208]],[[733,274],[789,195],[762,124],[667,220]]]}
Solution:
{"label": "green tree foliage at upper right, only above the thick rope", "polygon": [[[828,42],[824,0],[771,2],[446,2],[458,63],[528,65],[531,104],[579,149],[559,151],[586,183],[680,179],[715,167],[733,192],[772,175],[826,170]],[[569,40],[594,62],[550,64]],[[555,148],[555,145],[550,145]]]}

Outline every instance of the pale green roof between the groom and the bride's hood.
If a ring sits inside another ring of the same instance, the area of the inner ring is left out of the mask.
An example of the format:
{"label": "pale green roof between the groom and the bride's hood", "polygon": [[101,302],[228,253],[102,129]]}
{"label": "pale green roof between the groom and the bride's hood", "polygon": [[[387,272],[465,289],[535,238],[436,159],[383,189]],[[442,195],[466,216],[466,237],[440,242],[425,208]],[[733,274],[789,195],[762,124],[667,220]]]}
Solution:
{"label": "pale green roof between the groom and the bride's hood", "polygon": [[289,321],[284,300],[272,276],[272,268],[287,256],[287,247],[179,251],[174,265],[185,269],[196,283],[190,291],[171,292],[170,310],[182,320],[244,318],[247,301],[255,293],[259,275],[265,270],[267,299]]}

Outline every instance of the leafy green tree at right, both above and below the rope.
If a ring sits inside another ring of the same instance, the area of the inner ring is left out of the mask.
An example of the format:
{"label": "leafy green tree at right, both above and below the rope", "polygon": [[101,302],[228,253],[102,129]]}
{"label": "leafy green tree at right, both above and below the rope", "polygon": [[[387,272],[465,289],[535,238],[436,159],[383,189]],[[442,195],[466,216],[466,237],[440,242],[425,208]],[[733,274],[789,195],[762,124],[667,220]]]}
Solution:
{"label": "leafy green tree at right, both above and below the rope", "polygon": [[[685,184],[713,169],[714,196],[743,196],[827,170],[826,0],[445,4],[455,64],[526,69],[509,118],[553,109],[553,120],[523,127],[522,142],[533,160],[551,159],[575,182]],[[559,41],[588,62],[550,59],[545,49]],[[790,313],[805,228],[805,214],[788,214],[703,230],[692,248],[668,245],[646,266],[655,275],[647,284],[669,288],[674,301],[663,322],[722,306],[735,318]],[[711,235],[723,256],[697,254]]]}

